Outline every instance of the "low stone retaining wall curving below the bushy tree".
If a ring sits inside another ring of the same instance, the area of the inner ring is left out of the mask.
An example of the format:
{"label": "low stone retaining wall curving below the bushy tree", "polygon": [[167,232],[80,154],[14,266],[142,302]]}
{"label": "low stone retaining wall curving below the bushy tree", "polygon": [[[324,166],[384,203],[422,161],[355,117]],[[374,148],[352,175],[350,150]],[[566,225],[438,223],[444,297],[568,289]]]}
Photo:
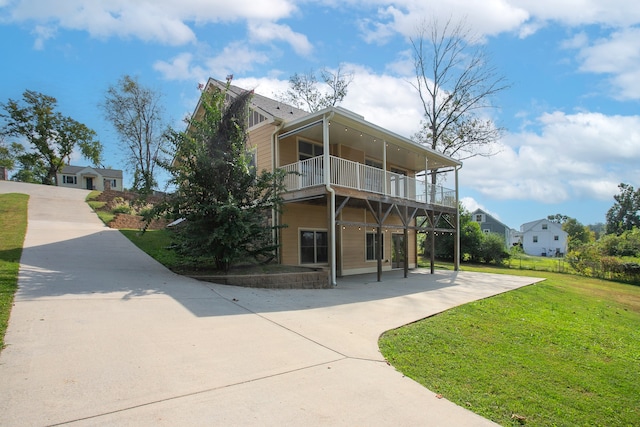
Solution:
{"label": "low stone retaining wall curving below the bushy tree", "polygon": [[328,289],[331,288],[328,271],[304,273],[247,274],[247,275],[190,275],[189,277],[220,285],[270,289]]}

